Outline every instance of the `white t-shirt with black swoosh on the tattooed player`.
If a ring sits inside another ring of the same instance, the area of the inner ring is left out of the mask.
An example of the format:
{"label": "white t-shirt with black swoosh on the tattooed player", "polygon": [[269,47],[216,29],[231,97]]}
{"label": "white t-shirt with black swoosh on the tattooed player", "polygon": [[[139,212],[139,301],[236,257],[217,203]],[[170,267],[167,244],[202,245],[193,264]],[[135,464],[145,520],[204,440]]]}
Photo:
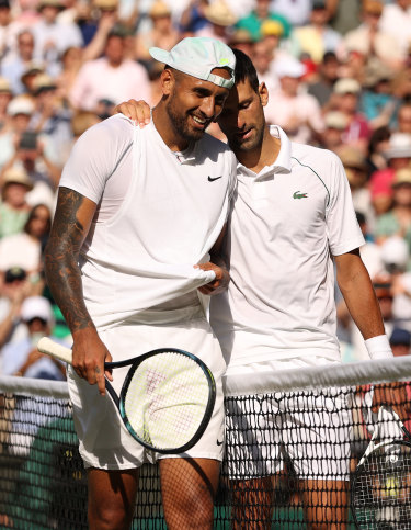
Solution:
{"label": "white t-shirt with black swoosh on the tattooed player", "polygon": [[196,289],[214,272],[194,264],[209,258],[235,182],[233,154],[207,134],[173,153],[152,122],[139,129],[115,115],[79,138],[60,187],[99,205],[80,262],[98,326],[160,304],[181,307],[190,294],[198,303]]}

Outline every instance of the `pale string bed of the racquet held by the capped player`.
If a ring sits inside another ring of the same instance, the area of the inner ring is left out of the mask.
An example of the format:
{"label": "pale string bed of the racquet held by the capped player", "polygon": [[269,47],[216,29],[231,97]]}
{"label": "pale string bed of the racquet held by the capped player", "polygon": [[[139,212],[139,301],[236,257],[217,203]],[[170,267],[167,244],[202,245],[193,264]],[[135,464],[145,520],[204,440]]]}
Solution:
{"label": "pale string bed of the racquet held by the capped player", "polygon": [[209,383],[203,369],[179,352],[142,361],[128,384],[124,411],[138,439],[156,449],[183,447],[202,425]]}

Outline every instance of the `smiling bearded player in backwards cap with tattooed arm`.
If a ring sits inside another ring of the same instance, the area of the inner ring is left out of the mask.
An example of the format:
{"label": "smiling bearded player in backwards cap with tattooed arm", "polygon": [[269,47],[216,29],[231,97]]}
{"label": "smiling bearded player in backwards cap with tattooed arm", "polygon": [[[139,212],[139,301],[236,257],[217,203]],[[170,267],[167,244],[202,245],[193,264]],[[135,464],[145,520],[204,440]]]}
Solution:
{"label": "smiling bearded player in backwards cap with tattooed arm", "polygon": [[[150,53],[165,64],[152,122],[141,131],[118,114],[79,138],[45,251],[48,284],[73,337],[68,383],[88,470],[89,526],[99,530],[128,528],[138,467],[158,456],[133,440],[102,396],[104,361],[174,347],[199,357],[216,380],[205,435],[186,454],[160,459],[168,528],[213,527],[222,458],[226,365],[198,290],[218,293],[229,279],[213,260],[236,159],[205,131],[233,84],[236,59],[206,37]],[[123,379],[114,375],[116,391]]]}

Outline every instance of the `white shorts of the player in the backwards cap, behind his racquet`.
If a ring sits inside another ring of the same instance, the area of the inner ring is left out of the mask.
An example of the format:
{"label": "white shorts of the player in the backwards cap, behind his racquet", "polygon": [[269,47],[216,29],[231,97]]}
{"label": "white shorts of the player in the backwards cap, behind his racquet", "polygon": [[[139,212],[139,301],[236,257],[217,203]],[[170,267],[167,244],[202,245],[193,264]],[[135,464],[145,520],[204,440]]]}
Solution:
{"label": "white shorts of the player in the backwards cap, behind his racquet", "polygon": [[[217,391],[212,419],[201,440],[186,453],[178,456],[222,460],[225,414],[221,375],[226,364],[203,309],[190,307],[183,312],[162,312],[161,315],[158,312],[151,315],[145,313],[145,318],[157,324],[141,324],[141,319],[138,323],[128,320],[110,329],[99,330],[99,335],[114,361],[129,359],[157,348],[179,348],[194,353],[208,365]],[[127,370],[128,367],[113,370],[113,386],[117,393]],[[153,462],[158,458],[169,458],[140,446],[124,427],[112,398],[107,394],[101,396],[98,386],[80,379],[72,368],[68,370],[68,384],[75,426],[80,440],[80,454],[85,467],[127,470],[139,467],[145,462]]]}

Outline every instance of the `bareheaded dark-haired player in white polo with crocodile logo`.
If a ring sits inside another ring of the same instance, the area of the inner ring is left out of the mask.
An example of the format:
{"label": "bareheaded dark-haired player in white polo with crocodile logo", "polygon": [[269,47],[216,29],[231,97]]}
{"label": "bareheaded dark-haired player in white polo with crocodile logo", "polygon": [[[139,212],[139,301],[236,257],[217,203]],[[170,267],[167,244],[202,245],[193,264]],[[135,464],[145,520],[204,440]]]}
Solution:
{"label": "bareheaded dark-haired player in white polo with crocodile logo", "polygon": [[[250,58],[239,50],[235,55],[236,86],[217,119],[238,159],[225,244],[231,281],[210,301],[227,374],[248,382],[265,377],[269,387],[278,370],[341,362],[333,263],[369,357],[392,357],[359,256],[364,238],[340,159],[289,142],[278,126],[269,127],[267,89],[259,84]],[[138,123],[149,117],[142,102],[117,109]],[[251,408],[261,403],[256,396]],[[237,433],[235,441],[226,440],[228,473],[235,481],[232,528],[271,528],[272,481],[284,469],[283,451],[300,481],[307,527],[346,528],[351,419],[344,394],[317,399],[276,394],[258,426],[253,410],[240,405],[236,402],[237,409],[227,413],[228,430]]]}

